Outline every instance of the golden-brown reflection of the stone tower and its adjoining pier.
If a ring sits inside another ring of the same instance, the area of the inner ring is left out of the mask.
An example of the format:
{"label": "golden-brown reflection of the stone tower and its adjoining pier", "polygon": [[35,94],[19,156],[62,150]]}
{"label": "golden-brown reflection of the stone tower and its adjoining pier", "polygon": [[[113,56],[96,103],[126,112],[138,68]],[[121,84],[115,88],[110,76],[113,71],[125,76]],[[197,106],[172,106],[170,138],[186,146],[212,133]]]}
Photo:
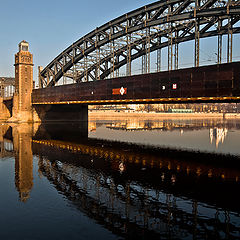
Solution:
{"label": "golden-brown reflection of the stone tower and its adjoining pier", "polygon": [[32,131],[29,124],[0,126],[0,157],[15,157],[15,187],[21,202],[29,199],[33,187]]}

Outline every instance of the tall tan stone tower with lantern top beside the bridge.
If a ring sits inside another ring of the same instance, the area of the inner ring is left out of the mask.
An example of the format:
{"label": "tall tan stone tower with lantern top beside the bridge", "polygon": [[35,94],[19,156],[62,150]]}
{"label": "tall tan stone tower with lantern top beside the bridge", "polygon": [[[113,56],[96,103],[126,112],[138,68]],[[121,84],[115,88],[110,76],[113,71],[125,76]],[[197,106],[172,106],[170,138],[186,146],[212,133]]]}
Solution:
{"label": "tall tan stone tower with lantern top beside the bridge", "polygon": [[13,117],[20,122],[32,121],[33,55],[26,41],[19,43],[15,54],[15,94],[13,98]]}

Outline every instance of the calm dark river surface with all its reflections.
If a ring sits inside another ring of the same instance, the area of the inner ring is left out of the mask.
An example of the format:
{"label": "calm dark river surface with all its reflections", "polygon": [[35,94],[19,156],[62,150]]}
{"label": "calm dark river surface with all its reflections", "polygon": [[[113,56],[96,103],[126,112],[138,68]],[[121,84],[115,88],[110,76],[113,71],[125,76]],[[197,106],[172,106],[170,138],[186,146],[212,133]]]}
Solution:
{"label": "calm dark river surface with all its reflections", "polygon": [[240,120],[0,125],[1,239],[240,239]]}

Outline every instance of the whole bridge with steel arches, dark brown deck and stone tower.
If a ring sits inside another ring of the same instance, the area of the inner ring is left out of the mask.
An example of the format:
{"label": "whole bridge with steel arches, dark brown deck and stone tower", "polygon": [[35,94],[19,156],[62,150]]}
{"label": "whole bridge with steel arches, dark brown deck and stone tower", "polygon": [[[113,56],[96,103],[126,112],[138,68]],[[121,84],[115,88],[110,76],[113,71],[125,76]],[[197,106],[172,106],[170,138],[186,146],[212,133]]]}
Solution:
{"label": "whole bridge with steel arches, dark brown deck and stone tower", "polygon": [[[126,13],[39,67],[40,89],[18,84],[22,89],[16,90],[18,106],[12,115],[33,121],[86,120],[89,104],[239,102],[240,62],[233,62],[239,20],[239,0],[162,0]],[[200,66],[203,38],[216,39],[216,65]],[[194,66],[180,69],[180,45],[190,41]],[[15,66],[32,67],[28,45],[22,45]],[[139,64],[141,71],[133,74]]]}

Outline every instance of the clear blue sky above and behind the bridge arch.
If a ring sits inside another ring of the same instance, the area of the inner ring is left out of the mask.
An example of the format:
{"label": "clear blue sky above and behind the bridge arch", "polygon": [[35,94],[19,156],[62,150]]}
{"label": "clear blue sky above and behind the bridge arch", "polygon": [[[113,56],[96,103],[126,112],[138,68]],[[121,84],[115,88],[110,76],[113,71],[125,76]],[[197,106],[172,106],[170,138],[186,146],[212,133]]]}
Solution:
{"label": "clear blue sky above and behind the bridge arch", "polygon": [[[45,67],[73,42],[96,27],[155,1],[0,0],[0,76],[14,76],[14,54],[22,40],[29,42],[34,59],[33,78],[37,80],[37,67]],[[238,60],[239,39],[233,40],[233,55]],[[200,61],[216,61],[216,39],[201,41]],[[191,59],[192,64],[194,51],[189,51],[189,47],[193,48],[193,43],[180,45],[179,61],[187,66]]]}

